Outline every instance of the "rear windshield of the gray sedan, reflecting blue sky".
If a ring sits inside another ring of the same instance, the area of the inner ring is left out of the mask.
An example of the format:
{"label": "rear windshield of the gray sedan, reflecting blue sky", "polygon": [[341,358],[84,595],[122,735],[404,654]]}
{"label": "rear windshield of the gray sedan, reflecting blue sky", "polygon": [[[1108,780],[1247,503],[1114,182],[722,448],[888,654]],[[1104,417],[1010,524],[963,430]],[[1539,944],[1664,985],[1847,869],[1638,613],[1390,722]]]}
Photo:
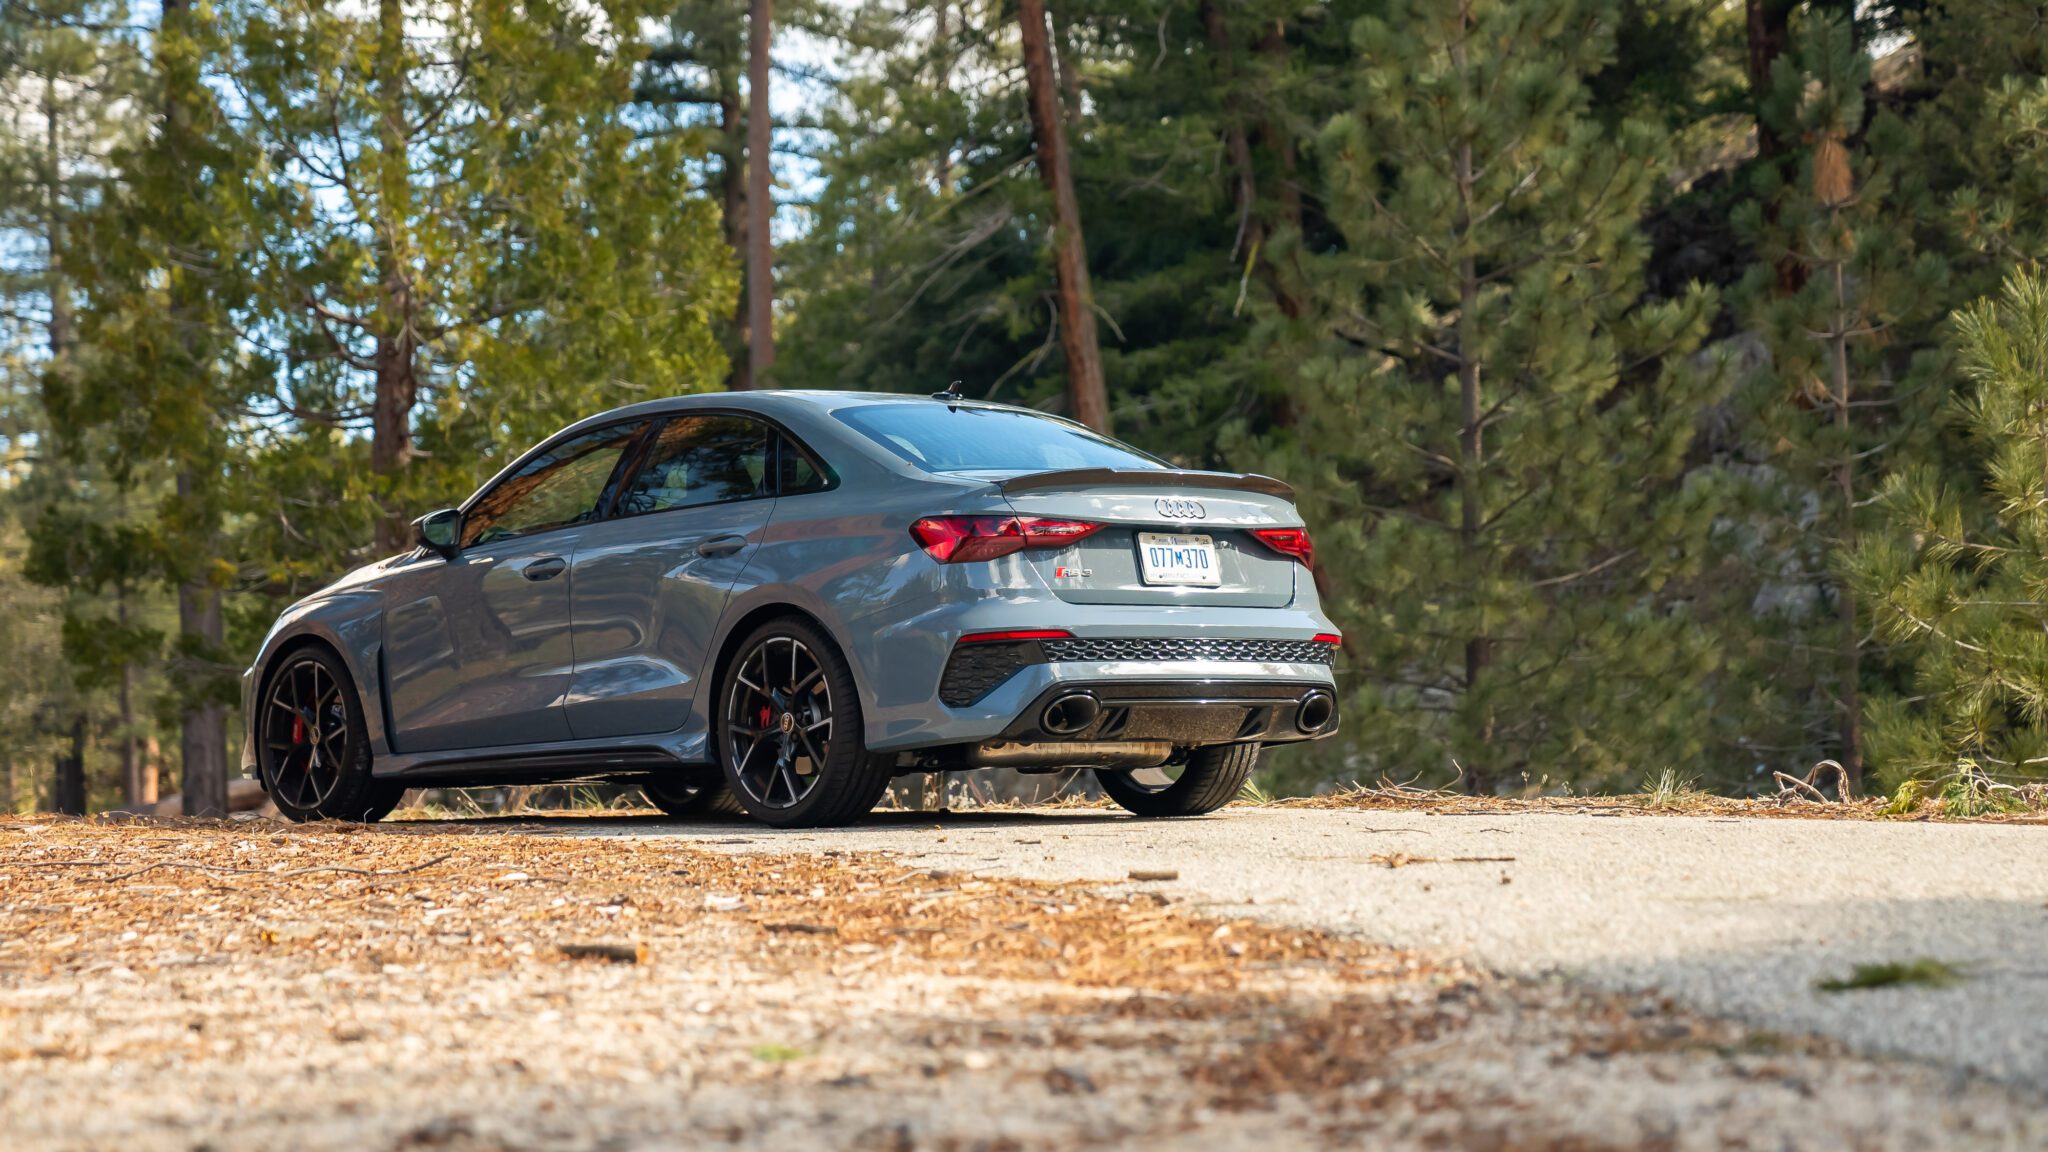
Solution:
{"label": "rear windshield of the gray sedan, reflecting blue sky", "polygon": [[950,408],[928,400],[840,408],[838,416],[926,471],[1165,467],[1157,457],[1077,424],[1010,408]]}

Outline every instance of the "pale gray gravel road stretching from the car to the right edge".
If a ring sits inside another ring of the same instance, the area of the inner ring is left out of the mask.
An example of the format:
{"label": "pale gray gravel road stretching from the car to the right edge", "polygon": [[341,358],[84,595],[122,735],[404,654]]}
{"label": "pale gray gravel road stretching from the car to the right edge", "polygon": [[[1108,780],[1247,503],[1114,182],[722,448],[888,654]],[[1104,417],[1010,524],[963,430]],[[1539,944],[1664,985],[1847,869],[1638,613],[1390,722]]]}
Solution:
{"label": "pale gray gravel road stretching from the car to the right edge", "polygon": [[[885,851],[1034,879],[1147,883],[1219,914],[1442,949],[1509,976],[1659,990],[2013,1086],[2048,1084],[2048,828],[1231,808],[877,814],[827,832],[612,824],[719,851]],[[1507,859],[1495,859],[1507,857]],[[1395,865],[1395,867],[1389,867]],[[1939,959],[1948,988],[1821,992],[1855,965]]]}

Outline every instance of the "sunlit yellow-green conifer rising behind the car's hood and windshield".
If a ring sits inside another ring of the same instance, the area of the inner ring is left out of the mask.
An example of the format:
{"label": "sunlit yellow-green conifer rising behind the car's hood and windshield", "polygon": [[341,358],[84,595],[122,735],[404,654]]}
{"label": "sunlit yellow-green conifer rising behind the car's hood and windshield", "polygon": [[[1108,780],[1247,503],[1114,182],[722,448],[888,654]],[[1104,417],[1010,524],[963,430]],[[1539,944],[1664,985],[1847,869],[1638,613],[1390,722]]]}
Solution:
{"label": "sunlit yellow-green conifer rising behind the car's hood and windshield", "polygon": [[379,551],[567,418],[723,375],[733,266],[686,191],[698,152],[625,119],[643,12],[233,8],[240,127],[272,158],[242,205],[281,344],[262,414],[367,424],[375,484],[319,484],[379,506]]}

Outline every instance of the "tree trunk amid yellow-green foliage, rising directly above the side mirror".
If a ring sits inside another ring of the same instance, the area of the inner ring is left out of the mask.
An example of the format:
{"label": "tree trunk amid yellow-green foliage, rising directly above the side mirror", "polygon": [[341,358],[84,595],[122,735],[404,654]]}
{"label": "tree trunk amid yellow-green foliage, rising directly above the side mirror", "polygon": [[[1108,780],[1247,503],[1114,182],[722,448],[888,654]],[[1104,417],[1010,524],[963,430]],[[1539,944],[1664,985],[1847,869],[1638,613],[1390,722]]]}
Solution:
{"label": "tree trunk amid yellow-green foliage, rising directly above the side mirror", "polygon": [[387,506],[377,521],[377,551],[403,549],[406,508],[399,482],[412,463],[412,410],[420,400],[420,328],[412,281],[412,146],[406,117],[406,6],[377,4],[377,392],[371,398],[371,471]]}

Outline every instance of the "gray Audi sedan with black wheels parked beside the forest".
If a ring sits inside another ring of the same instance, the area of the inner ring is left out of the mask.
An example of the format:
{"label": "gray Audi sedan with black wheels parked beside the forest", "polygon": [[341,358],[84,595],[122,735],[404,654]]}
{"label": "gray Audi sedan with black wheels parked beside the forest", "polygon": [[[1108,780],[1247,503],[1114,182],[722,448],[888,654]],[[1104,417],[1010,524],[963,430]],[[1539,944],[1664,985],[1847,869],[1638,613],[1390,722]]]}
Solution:
{"label": "gray Audi sedan with black wheels parked beside the forest", "polygon": [[618,781],[846,824],[891,777],[1092,769],[1229,804],[1337,730],[1292,490],[956,394],[750,392],[592,416],[418,547],[287,609],[244,771],[293,820],[408,787]]}

